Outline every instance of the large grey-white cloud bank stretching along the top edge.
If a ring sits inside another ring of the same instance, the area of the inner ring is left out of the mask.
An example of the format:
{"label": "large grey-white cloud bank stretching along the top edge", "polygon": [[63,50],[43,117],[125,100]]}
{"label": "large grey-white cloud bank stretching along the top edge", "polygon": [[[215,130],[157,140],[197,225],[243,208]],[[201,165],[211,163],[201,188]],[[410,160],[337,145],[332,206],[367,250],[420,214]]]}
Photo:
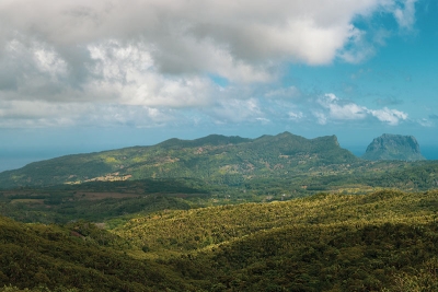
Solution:
{"label": "large grey-white cloud bank stretching along the top edge", "polygon": [[0,24],[10,27],[2,30],[3,38],[20,32],[59,49],[107,39],[143,43],[163,72],[215,71],[233,80],[260,81],[267,78],[267,72],[260,72],[268,66],[266,61],[331,62],[364,33],[351,25],[357,15],[390,10],[401,25],[412,25],[415,1],[406,0],[404,9],[397,3],[3,0]]}

